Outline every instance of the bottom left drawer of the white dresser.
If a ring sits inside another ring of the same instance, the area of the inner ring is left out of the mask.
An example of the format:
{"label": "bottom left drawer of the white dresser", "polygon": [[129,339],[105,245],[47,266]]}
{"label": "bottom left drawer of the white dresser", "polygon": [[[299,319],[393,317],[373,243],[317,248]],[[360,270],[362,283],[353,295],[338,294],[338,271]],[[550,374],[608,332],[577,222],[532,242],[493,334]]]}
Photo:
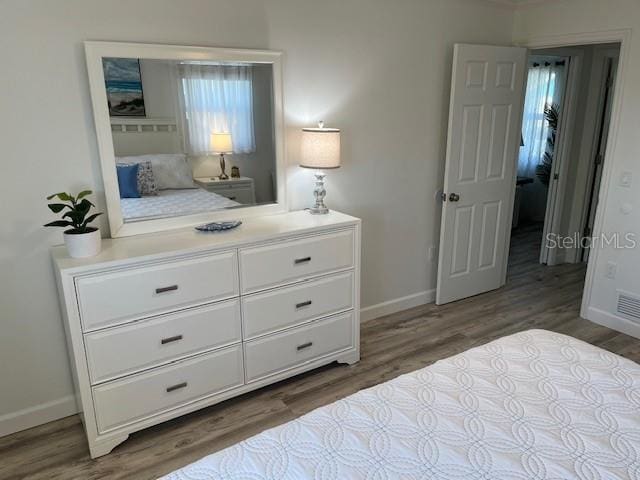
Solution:
{"label": "bottom left drawer of the white dresser", "polygon": [[242,347],[217,350],[93,389],[98,431],[243,385]]}

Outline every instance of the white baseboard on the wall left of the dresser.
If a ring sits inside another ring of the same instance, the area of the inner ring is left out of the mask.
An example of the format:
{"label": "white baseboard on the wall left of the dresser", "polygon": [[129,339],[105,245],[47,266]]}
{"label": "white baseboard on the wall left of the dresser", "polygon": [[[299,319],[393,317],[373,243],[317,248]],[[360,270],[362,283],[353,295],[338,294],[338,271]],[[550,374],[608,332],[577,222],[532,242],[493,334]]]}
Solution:
{"label": "white baseboard on the wall left of the dresser", "polygon": [[78,413],[74,395],[0,416],[0,437]]}

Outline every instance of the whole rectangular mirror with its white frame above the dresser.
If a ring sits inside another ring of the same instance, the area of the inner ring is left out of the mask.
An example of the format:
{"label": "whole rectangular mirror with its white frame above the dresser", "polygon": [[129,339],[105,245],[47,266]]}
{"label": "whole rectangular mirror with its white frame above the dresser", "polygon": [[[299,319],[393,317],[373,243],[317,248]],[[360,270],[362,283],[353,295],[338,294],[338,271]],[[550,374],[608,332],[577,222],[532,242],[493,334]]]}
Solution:
{"label": "whole rectangular mirror with its white frame above the dresser", "polygon": [[85,51],[111,236],[286,209],[281,53]]}

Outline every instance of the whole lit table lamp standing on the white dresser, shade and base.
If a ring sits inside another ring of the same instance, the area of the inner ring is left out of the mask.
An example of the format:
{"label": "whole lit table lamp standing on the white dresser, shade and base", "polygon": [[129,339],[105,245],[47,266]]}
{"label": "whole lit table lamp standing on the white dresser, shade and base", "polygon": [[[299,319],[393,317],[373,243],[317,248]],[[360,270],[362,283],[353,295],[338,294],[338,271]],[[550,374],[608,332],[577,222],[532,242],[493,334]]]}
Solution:
{"label": "whole lit table lamp standing on the white dresser, shade and base", "polygon": [[315,215],[329,213],[324,204],[327,191],[323,170],[340,167],[340,130],[325,128],[323,122],[319,122],[317,128],[303,128],[300,166],[316,170],[316,188],[313,191],[316,203],[309,212]]}

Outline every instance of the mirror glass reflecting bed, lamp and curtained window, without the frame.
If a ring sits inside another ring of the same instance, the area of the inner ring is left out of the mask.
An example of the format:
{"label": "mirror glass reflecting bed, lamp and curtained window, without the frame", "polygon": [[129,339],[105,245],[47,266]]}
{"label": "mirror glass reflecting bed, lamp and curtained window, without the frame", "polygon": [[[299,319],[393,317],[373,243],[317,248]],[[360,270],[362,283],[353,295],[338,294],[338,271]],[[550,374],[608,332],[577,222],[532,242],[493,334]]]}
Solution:
{"label": "mirror glass reflecting bed, lamp and curtained window, without the frame", "polygon": [[271,64],[102,64],[124,222],[275,202]]}

